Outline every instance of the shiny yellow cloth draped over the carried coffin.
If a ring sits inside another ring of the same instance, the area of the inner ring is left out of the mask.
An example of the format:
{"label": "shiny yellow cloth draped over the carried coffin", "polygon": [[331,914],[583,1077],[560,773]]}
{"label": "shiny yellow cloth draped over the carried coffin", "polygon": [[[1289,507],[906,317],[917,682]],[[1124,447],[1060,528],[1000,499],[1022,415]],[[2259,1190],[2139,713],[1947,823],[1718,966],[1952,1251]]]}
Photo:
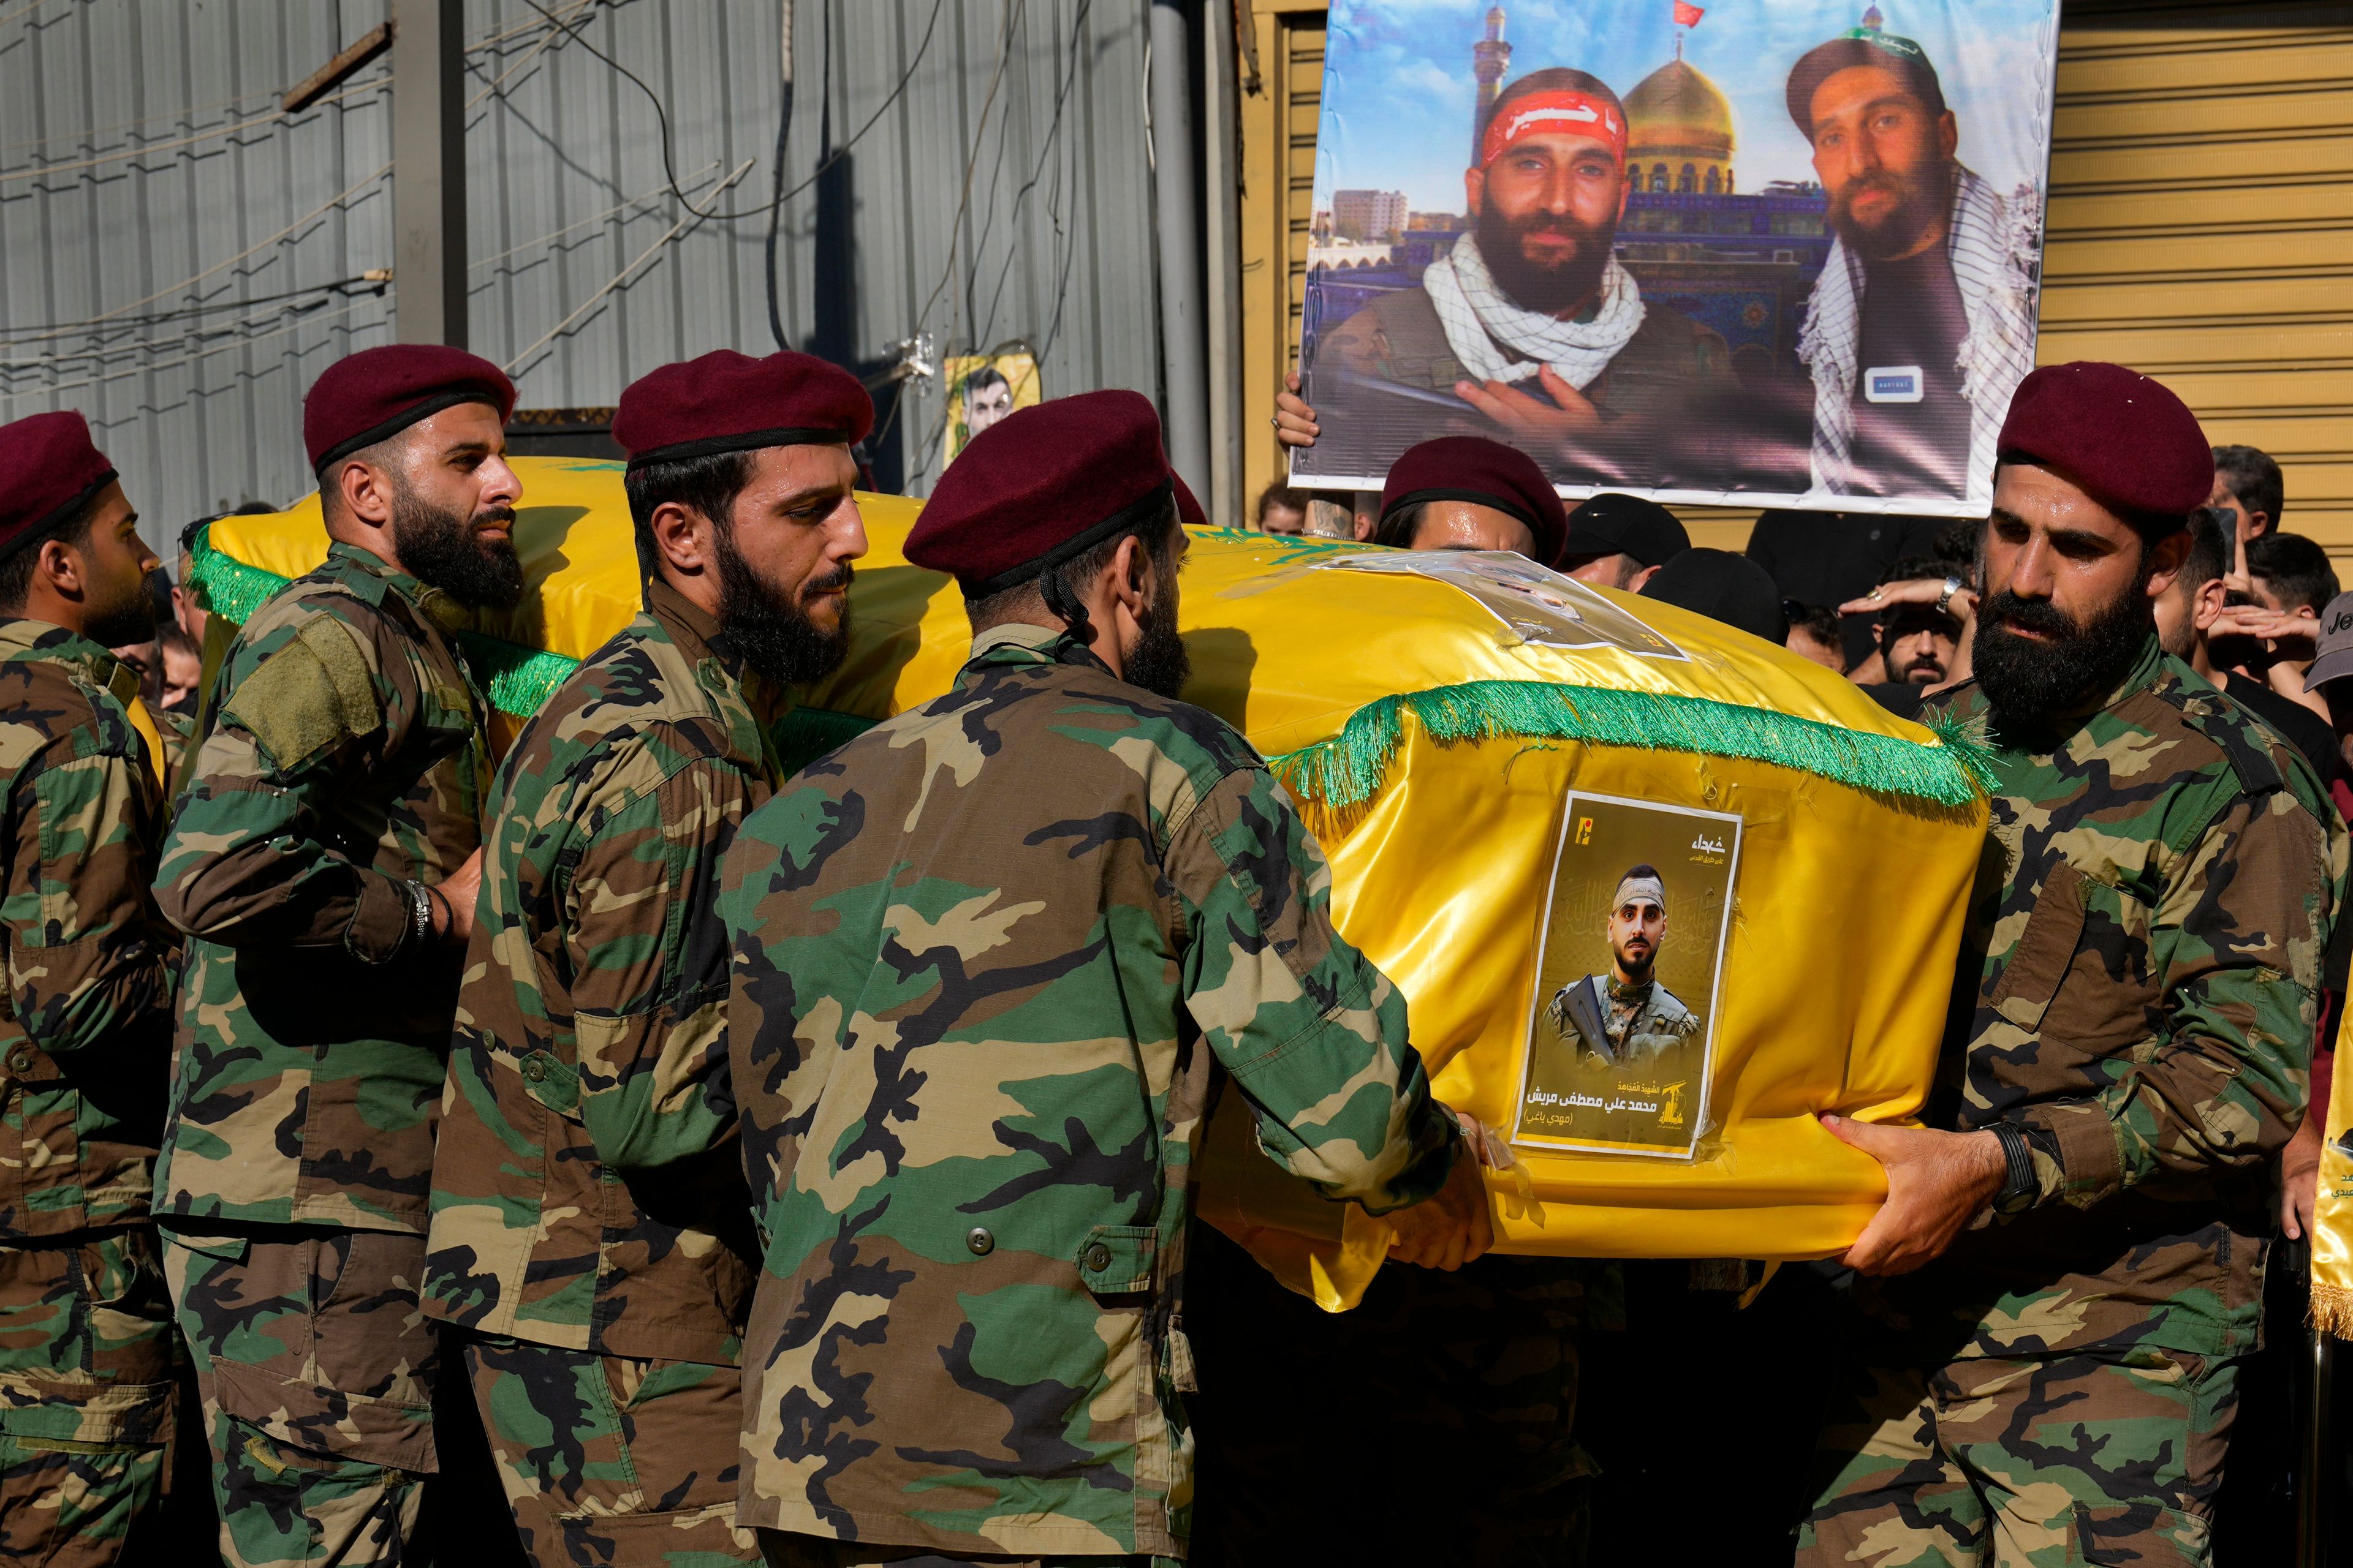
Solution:
{"label": "shiny yellow cloth draped over the carried coffin", "polygon": [[[478,630],[579,658],[640,602],[619,463],[522,458],[518,548],[534,595]],[[920,503],[859,498],[868,555],[852,588],[842,670],[805,710],[880,719],[948,689],[972,637],[962,599],[906,564]],[[325,555],[315,501],[224,517],[212,545],[280,576]],[[1367,703],[1471,682],[1704,698],[1934,752],[1838,675],[1715,621],[1607,595],[1682,658],[1539,646],[1421,576],[1329,562],[1369,545],[1207,529],[1181,578],[1193,656],[1186,698],[1268,757],[1329,743]],[[807,717],[802,712],[800,717]],[[1537,940],[1569,788],[1739,813],[1741,856],[1715,1018],[1708,1121],[1692,1161],[1520,1150],[1532,1187],[1494,1175],[1501,1248],[1579,1258],[1819,1258],[1885,1197],[1875,1161],[1814,1121],[1911,1117],[1929,1086],[1984,844],[1984,802],[1835,783],[1821,773],[1668,750],[1504,736],[1440,745],[1405,715],[1379,792],[1351,809],[1304,797],[1332,860],[1334,914],[1409,999],[1438,1093],[1506,1126],[1537,987]],[[1205,1154],[1202,1215],[1285,1284],[1353,1305],[1386,1227],[1325,1204],[1257,1154],[1228,1093]]]}

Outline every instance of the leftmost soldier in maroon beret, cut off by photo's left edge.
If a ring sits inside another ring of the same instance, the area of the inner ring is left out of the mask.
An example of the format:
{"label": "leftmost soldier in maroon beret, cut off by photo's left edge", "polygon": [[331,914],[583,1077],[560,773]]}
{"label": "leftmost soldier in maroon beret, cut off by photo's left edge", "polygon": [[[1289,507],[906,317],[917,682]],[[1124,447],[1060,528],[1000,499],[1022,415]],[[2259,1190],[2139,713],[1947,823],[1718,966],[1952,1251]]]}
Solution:
{"label": "leftmost soldier in maroon beret, cut off by photo's left edge", "polygon": [[0,1561],[141,1561],[169,1474],[148,1225],[172,1034],[158,738],[106,649],[151,625],[80,414],[0,425]]}

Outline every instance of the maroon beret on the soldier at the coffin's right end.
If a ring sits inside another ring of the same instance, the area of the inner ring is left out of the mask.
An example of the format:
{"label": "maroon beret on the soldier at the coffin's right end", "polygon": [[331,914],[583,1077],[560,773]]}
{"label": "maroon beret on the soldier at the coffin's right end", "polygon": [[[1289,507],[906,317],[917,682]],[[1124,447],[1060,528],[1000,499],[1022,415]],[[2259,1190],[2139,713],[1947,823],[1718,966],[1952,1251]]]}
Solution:
{"label": "maroon beret on the soldier at the coffin's right end", "polygon": [[2045,364],[2009,397],[2002,463],[2042,463],[2125,517],[2188,517],[2214,494],[2214,449],[2179,397],[2122,364]]}

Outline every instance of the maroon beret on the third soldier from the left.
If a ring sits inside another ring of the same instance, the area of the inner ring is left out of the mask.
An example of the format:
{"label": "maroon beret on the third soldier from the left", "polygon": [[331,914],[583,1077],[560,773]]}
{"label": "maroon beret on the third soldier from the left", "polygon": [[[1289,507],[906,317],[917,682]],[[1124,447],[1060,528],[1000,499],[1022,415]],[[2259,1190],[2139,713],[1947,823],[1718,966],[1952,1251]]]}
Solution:
{"label": "maroon beret on the third soldier from the left", "polygon": [[758,447],[856,447],[873,428],[875,400],[840,364],[732,348],[638,376],[612,416],[631,468]]}

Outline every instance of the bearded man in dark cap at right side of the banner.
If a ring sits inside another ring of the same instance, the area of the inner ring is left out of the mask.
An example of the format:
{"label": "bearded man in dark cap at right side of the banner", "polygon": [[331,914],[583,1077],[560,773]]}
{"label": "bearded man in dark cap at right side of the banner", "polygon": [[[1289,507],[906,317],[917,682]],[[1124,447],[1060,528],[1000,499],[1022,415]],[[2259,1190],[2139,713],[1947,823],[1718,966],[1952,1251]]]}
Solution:
{"label": "bearded man in dark cap at right side of the banner", "polygon": [[1814,489],[1984,508],[1993,437],[2035,362],[2040,197],[2002,197],[1958,162],[1927,52],[1875,26],[1798,61],[1788,118],[1835,235],[1798,334]]}

